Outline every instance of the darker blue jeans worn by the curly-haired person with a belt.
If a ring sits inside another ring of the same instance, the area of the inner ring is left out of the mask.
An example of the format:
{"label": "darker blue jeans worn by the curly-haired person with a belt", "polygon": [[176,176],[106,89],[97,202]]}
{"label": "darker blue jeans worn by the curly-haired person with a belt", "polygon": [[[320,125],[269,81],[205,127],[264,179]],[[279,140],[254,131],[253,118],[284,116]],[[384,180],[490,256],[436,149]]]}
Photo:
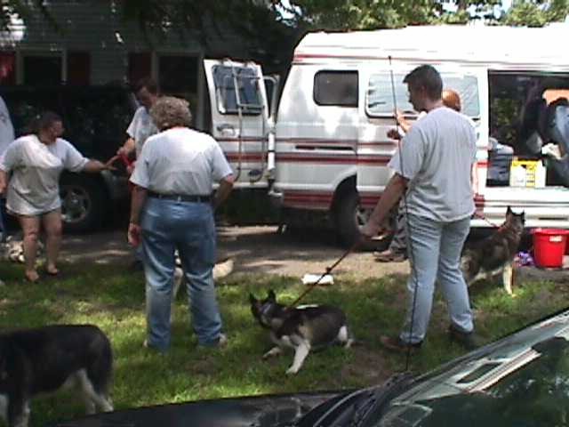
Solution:
{"label": "darker blue jeans worn by the curly-haired person with a belt", "polygon": [[141,217],[148,345],[170,346],[170,310],[178,249],[184,270],[191,321],[202,345],[217,343],[221,317],[213,286],[215,223],[207,203],[148,197]]}

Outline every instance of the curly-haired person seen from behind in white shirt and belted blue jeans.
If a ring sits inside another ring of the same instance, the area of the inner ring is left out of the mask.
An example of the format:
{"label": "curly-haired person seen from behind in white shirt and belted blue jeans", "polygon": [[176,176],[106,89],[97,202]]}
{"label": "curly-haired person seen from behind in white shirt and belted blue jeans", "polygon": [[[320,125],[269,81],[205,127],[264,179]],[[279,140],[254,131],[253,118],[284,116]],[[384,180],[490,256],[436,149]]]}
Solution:
{"label": "curly-haired person seen from behind in white shirt and belted blue jeans", "polygon": [[[136,161],[128,228],[129,241],[134,246],[141,243],[144,253],[145,346],[158,351],[170,347],[174,250],[178,249],[197,342],[220,347],[227,337],[213,286],[213,209],[233,188],[233,172],[218,142],[188,127],[187,101],[161,97],[150,114],[160,133],[144,142]],[[215,181],[219,187],[212,197]]]}

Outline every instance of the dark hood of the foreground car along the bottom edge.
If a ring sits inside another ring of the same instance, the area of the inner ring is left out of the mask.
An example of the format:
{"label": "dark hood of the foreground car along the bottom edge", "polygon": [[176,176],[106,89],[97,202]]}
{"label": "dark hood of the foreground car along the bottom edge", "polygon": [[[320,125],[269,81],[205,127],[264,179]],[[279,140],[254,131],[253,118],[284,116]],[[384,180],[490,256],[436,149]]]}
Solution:
{"label": "dark hood of the foreground car along the bottom edge", "polygon": [[51,427],[223,427],[290,425],[328,399],[347,391],[320,391],[255,397],[199,400],[172,405],[138,407],[86,416]]}

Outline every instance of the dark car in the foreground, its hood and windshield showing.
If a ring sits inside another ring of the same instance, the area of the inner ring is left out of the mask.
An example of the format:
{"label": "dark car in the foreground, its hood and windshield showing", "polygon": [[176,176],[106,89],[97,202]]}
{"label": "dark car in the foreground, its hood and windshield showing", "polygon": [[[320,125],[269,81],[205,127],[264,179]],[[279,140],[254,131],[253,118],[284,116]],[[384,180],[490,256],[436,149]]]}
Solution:
{"label": "dark car in the foreground, its hood and windshield showing", "polygon": [[357,391],[216,399],[116,411],[57,427],[567,425],[569,310],[426,375]]}

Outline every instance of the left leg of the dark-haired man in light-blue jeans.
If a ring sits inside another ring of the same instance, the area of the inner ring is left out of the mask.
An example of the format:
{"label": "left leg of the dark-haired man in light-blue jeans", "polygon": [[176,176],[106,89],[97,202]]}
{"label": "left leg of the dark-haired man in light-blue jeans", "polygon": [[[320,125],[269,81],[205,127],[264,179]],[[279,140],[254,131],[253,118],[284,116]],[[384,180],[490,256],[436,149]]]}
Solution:
{"label": "left leg of the dark-haired man in light-blue jeans", "polygon": [[399,338],[402,342],[416,344],[423,341],[429,326],[442,227],[439,222],[409,215],[407,230],[407,252],[411,262],[411,275],[407,282],[409,304]]}

